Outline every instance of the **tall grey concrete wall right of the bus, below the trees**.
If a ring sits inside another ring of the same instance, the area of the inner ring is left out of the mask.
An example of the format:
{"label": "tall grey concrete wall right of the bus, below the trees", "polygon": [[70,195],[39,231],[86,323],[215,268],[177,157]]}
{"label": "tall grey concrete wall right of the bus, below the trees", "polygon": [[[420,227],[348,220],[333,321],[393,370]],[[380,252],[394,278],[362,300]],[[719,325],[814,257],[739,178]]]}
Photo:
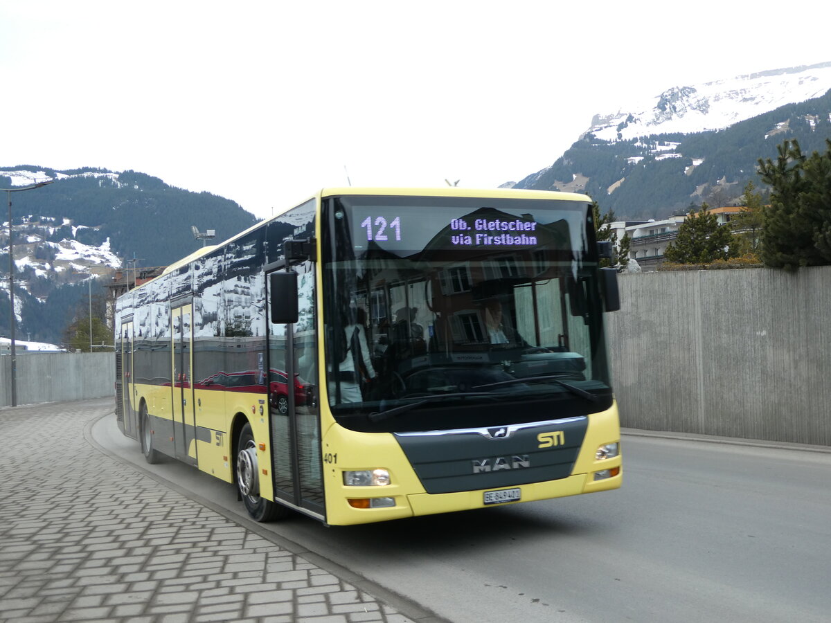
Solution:
{"label": "tall grey concrete wall right of the bus, below the trees", "polygon": [[831,445],[831,267],[622,274],[622,426]]}

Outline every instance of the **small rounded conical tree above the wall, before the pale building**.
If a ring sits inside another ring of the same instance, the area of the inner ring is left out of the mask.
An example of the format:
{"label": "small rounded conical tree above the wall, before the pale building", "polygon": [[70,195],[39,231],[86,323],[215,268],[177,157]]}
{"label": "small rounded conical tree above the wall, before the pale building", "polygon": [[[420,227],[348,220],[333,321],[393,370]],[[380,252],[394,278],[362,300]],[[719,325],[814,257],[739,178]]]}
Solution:
{"label": "small rounded conical tree above the wall, before the pale building", "polygon": [[719,225],[715,214],[707,212],[709,206],[701,204],[696,213],[687,215],[674,243],[666,247],[664,256],[678,264],[709,264],[717,259],[735,258],[738,250],[730,228]]}

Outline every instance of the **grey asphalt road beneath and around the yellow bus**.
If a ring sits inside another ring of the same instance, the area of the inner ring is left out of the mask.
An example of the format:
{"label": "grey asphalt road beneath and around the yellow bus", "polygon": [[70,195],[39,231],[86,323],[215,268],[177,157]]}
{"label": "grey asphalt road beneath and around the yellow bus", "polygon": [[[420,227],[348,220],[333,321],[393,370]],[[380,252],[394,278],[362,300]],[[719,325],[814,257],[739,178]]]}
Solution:
{"label": "grey asphalt road beneath and around the yellow bus", "polygon": [[[234,490],[98,444],[226,513]],[[619,491],[357,527],[264,524],[457,623],[831,621],[831,453],[625,435]]]}

